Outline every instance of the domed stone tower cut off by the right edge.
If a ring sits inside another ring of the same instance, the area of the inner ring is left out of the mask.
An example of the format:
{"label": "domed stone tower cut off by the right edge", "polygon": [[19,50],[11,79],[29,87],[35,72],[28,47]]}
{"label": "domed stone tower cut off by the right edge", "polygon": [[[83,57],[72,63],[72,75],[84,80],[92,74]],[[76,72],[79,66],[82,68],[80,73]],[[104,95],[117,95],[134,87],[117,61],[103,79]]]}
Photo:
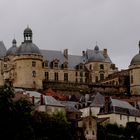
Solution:
{"label": "domed stone tower cut off by the right edge", "polygon": [[130,92],[133,95],[140,95],[140,41],[139,41],[139,53],[136,54],[129,66],[130,75]]}

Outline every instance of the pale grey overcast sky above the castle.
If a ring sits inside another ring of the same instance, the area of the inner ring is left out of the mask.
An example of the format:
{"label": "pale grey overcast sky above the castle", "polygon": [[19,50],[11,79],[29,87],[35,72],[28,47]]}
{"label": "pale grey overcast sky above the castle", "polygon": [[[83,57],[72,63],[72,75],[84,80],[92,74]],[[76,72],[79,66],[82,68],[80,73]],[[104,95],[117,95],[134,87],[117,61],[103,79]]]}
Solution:
{"label": "pale grey overcast sky above the castle", "polygon": [[97,44],[127,69],[138,53],[140,0],[0,0],[0,40],[23,41],[29,25],[40,49],[80,55]]}

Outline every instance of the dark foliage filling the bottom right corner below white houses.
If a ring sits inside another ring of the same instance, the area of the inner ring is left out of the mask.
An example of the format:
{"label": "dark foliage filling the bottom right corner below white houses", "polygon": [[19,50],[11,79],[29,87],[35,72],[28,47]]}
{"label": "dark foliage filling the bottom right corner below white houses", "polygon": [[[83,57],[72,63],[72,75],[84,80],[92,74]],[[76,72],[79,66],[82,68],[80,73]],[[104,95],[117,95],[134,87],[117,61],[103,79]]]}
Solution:
{"label": "dark foliage filling the bottom right corner below white houses", "polygon": [[117,124],[98,124],[98,140],[140,140],[140,124],[138,122],[129,122],[126,127]]}

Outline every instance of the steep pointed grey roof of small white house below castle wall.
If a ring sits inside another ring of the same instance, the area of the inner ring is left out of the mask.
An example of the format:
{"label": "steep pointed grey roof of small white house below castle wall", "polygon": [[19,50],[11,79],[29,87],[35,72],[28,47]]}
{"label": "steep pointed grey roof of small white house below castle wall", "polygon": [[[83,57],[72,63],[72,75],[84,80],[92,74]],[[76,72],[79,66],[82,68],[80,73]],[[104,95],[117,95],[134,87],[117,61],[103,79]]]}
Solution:
{"label": "steep pointed grey roof of small white house below castle wall", "polygon": [[100,93],[97,93],[90,104],[90,107],[103,107],[105,104],[105,97]]}

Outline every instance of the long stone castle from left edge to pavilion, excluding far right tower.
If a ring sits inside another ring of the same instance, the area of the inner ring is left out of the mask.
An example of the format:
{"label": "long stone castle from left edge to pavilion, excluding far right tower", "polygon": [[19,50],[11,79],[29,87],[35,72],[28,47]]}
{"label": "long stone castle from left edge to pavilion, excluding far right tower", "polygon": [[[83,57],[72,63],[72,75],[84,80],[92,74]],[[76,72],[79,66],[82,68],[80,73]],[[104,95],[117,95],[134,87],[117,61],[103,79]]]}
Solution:
{"label": "long stone castle from left edge to pavilion, excluding far right tower", "polygon": [[41,50],[33,43],[33,32],[27,27],[20,46],[14,39],[6,50],[0,42],[0,85],[9,82],[16,88],[42,89],[44,81],[96,83],[117,71],[107,49],[87,49],[82,55]]}

